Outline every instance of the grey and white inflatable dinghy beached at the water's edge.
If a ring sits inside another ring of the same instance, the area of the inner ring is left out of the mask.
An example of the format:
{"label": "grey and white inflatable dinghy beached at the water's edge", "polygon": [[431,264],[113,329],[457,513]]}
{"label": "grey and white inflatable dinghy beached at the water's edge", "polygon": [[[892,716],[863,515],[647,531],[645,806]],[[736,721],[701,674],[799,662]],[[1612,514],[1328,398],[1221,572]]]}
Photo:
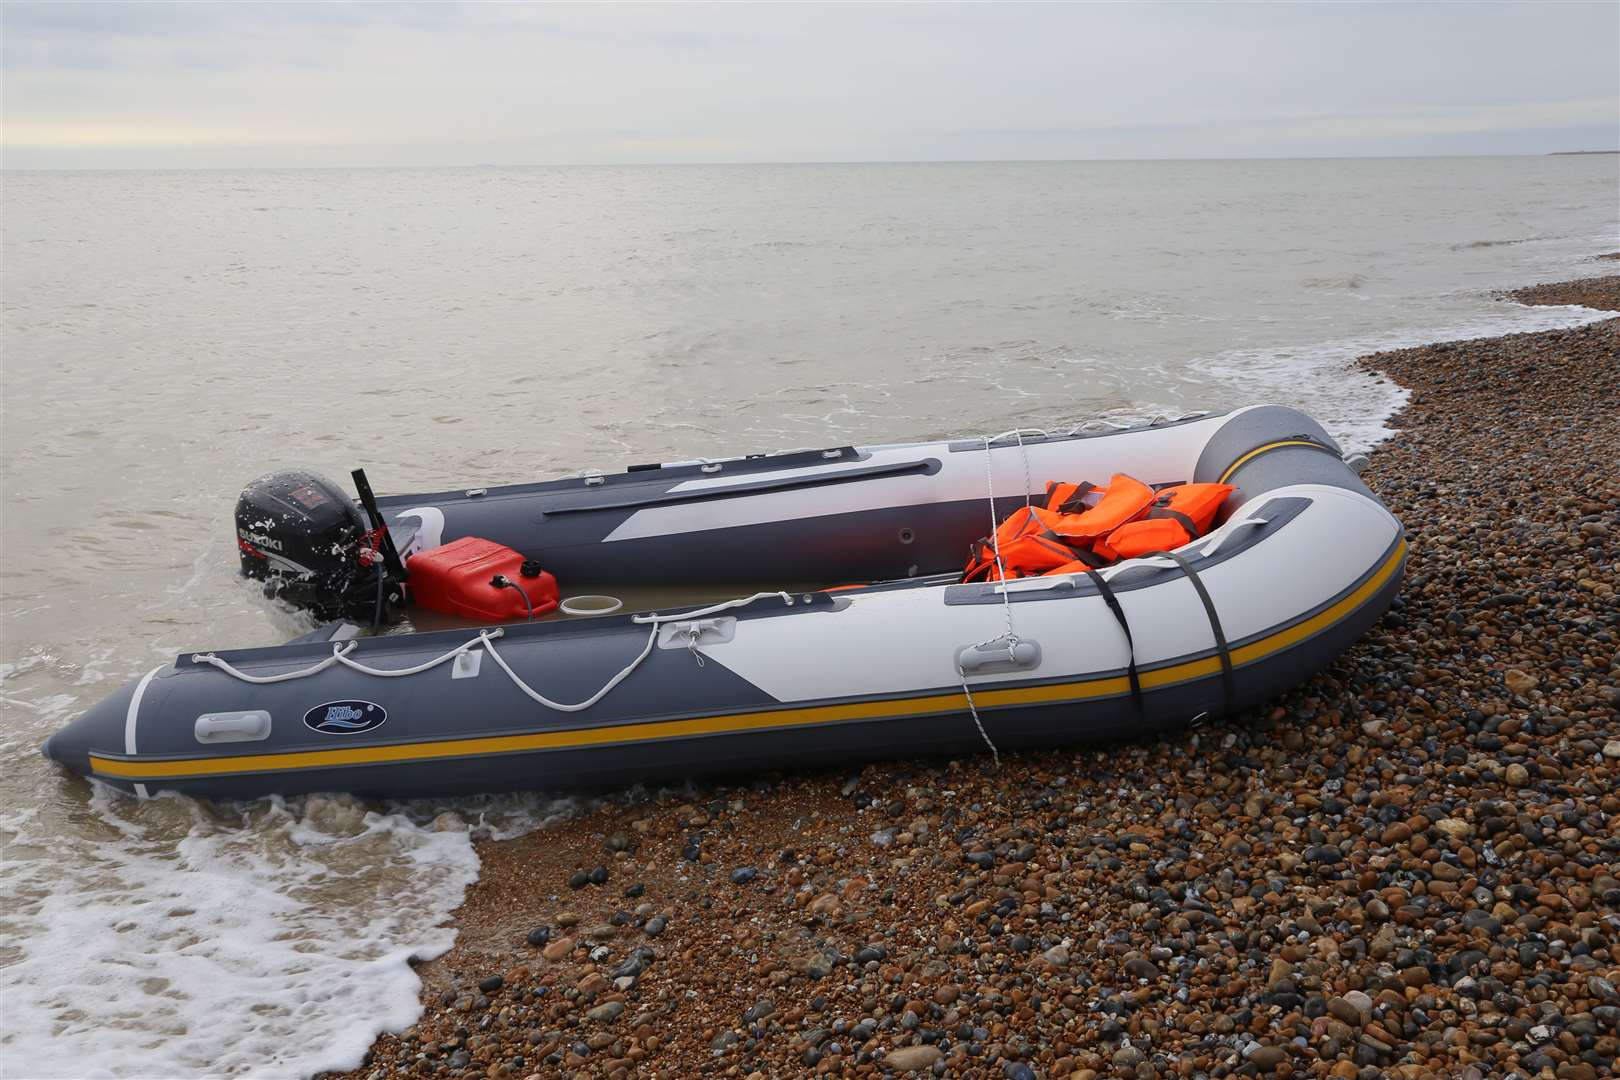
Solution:
{"label": "grey and white inflatable dinghy beached at the water's edge", "polygon": [[[1048,481],[1116,471],[1234,491],[1166,555],[962,583],[970,546]],[[424,797],[1132,737],[1324,667],[1388,607],[1406,552],[1328,434],[1281,406],[426,495],[363,487],[360,504],[300,476],[245,492],[243,562],[279,559],[295,599],[361,619],[465,538],[562,583],[823,588],[431,633],[335,622],[186,653],[55,733],[49,758],[138,795]],[[352,557],[356,533],[387,573]],[[303,562],[316,557],[332,562]]]}

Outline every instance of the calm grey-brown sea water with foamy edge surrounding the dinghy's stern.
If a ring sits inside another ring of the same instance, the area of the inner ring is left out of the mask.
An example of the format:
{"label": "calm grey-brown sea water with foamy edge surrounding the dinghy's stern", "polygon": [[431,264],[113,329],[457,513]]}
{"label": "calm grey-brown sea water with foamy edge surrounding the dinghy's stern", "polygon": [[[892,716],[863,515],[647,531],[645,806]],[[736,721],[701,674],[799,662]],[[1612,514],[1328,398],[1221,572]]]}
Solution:
{"label": "calm grey-brown sea water with foamy edge surrounding the dinghy's stern", "polygon": [[468,826],[544,795],[134,801],[39,758],[183,649],[301,631],[235,495],[379,491],[1281,402],[1573,325],[1615,157],[6,173],[0,1072],[300,1075],[418,1012]]}

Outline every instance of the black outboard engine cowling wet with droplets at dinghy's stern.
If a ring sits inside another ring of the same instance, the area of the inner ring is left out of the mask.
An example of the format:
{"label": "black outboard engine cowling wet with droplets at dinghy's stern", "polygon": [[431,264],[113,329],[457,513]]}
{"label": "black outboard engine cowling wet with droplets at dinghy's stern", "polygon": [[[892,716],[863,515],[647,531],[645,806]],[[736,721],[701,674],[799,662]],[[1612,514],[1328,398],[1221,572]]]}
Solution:
{"label": "black outboard engine cowling wet with droplets at dinghy's stern", "polygon": [[[319,473],[288,470],[248,484],[237,499],[243,576],[319,619],[377,620],[399,599],[353,499]],[[379,593],[381,583],[381,593]]]}

